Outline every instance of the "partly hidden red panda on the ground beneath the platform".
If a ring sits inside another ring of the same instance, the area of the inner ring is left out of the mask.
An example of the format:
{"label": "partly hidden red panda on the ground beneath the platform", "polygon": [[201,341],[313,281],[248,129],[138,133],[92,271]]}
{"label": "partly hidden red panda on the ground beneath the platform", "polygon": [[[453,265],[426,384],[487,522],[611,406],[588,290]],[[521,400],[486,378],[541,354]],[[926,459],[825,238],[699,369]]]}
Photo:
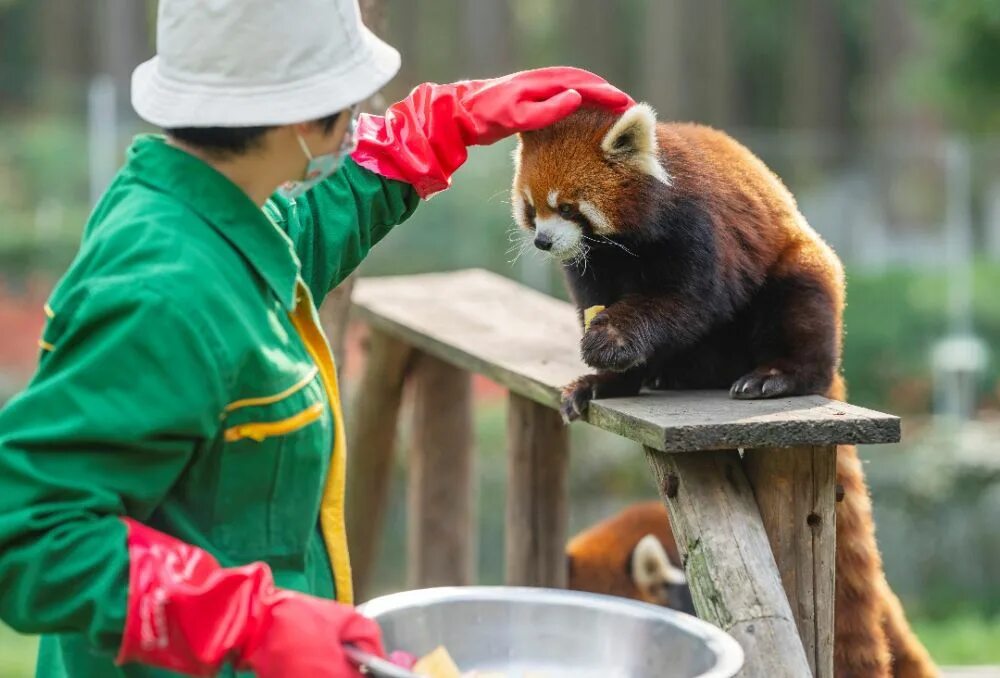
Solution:
{"label": "partly hidden red panda on the ground beneath the platform", "polygon": [[694,614],[667,512],[658,501],[627,507],[566,545],[567,585]]}

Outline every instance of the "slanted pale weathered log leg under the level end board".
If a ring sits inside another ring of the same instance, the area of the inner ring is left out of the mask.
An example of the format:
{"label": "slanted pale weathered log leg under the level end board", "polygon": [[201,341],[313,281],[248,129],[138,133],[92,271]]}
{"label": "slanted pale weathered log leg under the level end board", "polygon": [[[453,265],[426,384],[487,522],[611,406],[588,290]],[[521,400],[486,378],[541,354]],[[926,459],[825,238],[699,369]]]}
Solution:
{"label": "slanted pale weathered log leg under the level end board", "polygon": [[646,459],[670,512],[698,616],[742,645],[740,675],[810,675],[739,453],[647,447]]}

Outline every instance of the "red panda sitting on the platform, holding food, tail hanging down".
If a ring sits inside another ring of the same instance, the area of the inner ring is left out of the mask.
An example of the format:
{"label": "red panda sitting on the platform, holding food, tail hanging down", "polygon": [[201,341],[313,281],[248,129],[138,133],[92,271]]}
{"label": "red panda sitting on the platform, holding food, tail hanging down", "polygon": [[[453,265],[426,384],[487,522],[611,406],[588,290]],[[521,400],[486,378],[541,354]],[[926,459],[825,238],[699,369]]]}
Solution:
{"label": "red panda sitting on the platform, holding food, tail hanging down", "polygon": [[[604,307],[584,327],[595,372],[566,387],[566,420],[592,398],[644,386],[844,399],[840,261],[745,147],[708,127],[657,123],[639,104],[523,133],[514,157],[522,232],[561,262],[581,323]],[[889,614],[852,446],[838,448],[837,482],[835,674],[890,675],[888,638],[906,638],[900,649],[913,656],[896,664],[936,675],[905,617]]]}

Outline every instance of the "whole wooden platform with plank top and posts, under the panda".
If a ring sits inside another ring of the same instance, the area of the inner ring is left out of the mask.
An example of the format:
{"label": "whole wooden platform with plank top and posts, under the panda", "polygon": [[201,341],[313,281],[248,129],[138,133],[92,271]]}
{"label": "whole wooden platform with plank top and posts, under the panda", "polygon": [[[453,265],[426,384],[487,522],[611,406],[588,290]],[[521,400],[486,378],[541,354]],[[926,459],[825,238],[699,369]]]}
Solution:
{"label": "whole wooden platform with plank top and posts, under the panda", "polygon": [[[484,271],[364,279],[354,303],[372,328],[348,427],[356,588],[374,562],[408,382],[409,585],[472,582],[469,373],[510,391],[506,581],[564,586],[570,454],[556,408],[590,371],[575,309]],[[741,675],[831,677],[836,445],[895,442],[899,420],[815,396],[723,392],[595,401],[585,420],[644,447],[695,608],[740,642]]]}

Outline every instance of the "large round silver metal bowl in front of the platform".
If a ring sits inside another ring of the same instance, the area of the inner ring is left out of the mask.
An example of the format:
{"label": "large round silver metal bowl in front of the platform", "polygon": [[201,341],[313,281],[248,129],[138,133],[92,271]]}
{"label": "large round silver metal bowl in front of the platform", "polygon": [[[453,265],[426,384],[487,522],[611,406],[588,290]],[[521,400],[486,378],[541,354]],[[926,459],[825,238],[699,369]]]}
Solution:
{"label": "large round silver metal bowl in front of the platform", "polygon": [[360,611],[387,650],[447,648],[463,671],[504,678],[730,678],[743,650],[691,615],[624,598],[468,586],[375,598]]}

